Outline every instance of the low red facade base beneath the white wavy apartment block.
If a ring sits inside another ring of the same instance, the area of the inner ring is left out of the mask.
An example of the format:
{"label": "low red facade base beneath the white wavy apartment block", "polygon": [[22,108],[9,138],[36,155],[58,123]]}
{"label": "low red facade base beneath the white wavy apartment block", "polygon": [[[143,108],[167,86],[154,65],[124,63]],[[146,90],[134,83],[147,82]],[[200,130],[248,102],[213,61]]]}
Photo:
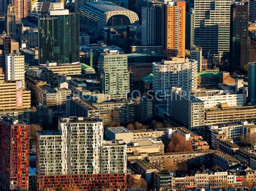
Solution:
{"label": "low red facade base beneath the white wavy apartment block", "polygon": [[77,190],[126,189],[126,173],[38,175],[37,190],[73,188]]}

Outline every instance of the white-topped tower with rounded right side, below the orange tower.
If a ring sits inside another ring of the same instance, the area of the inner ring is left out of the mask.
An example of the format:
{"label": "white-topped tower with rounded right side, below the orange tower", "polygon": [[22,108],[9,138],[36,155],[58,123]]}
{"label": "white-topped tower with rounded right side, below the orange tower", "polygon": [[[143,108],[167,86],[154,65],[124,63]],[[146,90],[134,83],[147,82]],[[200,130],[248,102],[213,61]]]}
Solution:
{"label": "white-topped tower with rounded right side, below the orange tower", "polygon": [[197,61],[171,58],[153,62],[153,91],[167,93],[171,87],[181,87],[187,93],[197,89]]}

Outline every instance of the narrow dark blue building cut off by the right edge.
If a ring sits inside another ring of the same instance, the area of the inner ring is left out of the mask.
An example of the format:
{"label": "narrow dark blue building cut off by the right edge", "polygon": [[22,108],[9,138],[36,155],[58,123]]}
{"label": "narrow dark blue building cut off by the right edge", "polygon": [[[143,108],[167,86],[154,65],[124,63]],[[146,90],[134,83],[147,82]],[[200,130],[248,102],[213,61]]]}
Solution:
{"label": "narrow dark blue building cut off by the right edge", "polygon": [[256,104],[256,62],[250,62],[248,68],[248,98]]}

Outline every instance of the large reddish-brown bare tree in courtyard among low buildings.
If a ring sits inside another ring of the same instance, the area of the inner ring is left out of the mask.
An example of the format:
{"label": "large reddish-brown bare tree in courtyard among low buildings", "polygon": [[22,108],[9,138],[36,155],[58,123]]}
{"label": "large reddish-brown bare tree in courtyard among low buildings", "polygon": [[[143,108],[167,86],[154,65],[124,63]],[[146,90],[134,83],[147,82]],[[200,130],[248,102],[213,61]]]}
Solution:
{"label": "large reddish-brown bare tree in courtyard among low buildings", "polygon": [[193,146],[189,140],[180,133],[173,133],[172,139],[168,145],[167,152],[185,152],[194,151]]}

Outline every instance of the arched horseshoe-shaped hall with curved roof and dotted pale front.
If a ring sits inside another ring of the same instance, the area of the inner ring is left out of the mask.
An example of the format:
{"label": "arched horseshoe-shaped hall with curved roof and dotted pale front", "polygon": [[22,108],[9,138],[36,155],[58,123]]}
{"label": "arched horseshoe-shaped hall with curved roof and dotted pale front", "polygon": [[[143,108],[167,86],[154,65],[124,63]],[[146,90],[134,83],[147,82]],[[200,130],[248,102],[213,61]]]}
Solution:
{"label": "arched horseshoe-shaped hall with curved roof and dotted pale front", "polygon": [[104,27],[125,29],[126,26],[139,24],[139,17],[135,12],[111,2],[88,2],[79,11],[81,27],[96,36],[101,34]]}

